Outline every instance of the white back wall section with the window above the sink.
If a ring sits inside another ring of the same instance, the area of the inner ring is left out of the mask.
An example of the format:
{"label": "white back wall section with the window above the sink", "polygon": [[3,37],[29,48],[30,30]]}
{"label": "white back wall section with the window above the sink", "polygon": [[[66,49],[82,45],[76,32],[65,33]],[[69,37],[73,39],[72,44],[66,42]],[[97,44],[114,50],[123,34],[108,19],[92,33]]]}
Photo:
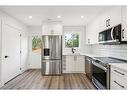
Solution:
{"label": "white back wall section with the window above the sink", "polygon": [[85,42],[85,27],[84,26],[64,26],[63,27],[63,51],[72,53],[72,48],[75,53],[84,49]]}

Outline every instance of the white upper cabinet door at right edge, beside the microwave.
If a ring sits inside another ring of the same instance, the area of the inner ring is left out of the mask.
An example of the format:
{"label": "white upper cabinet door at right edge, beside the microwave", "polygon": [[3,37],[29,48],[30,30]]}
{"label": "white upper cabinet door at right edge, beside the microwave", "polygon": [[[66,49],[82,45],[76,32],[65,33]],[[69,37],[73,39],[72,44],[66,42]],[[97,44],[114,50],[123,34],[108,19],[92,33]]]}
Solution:
{"label": "white upper cabinet door at right edge, beside the microwave", "polygon": [[122,41],[127,41],[127,7],[122,7]]}

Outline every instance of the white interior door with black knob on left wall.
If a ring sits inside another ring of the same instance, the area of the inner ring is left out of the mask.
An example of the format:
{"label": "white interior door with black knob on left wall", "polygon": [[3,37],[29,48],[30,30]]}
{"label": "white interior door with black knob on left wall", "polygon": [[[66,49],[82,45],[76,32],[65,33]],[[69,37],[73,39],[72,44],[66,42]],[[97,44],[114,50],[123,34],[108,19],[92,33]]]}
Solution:
{"label": "white interior door with black knob on left wall", "polygon": [[20,74],[20,33],[5,24],[2,31],[2,81],[6,83]]}

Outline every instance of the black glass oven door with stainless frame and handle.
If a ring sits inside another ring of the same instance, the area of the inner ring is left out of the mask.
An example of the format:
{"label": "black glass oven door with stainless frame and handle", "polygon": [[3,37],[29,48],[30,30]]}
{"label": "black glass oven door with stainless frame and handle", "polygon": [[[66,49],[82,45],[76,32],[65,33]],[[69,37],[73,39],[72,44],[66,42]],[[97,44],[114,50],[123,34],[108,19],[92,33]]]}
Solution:
{"label": "black glass oven door with stainless frame and handle", "polygon": [[92,61],[92,82],[98,89],[109,88],[109,70],[104,66]]}

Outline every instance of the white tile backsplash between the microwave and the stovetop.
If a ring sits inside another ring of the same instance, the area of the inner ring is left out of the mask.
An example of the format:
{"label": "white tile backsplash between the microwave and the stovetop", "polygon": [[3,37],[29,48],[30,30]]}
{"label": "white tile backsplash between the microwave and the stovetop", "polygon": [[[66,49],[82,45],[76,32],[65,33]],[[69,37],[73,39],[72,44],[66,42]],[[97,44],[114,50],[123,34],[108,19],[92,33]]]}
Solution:
{"label": "white tile backsplash between the microwave and the stovetop", "polygon": [[127,60],[127,45],[92,45],[91,53]]}

